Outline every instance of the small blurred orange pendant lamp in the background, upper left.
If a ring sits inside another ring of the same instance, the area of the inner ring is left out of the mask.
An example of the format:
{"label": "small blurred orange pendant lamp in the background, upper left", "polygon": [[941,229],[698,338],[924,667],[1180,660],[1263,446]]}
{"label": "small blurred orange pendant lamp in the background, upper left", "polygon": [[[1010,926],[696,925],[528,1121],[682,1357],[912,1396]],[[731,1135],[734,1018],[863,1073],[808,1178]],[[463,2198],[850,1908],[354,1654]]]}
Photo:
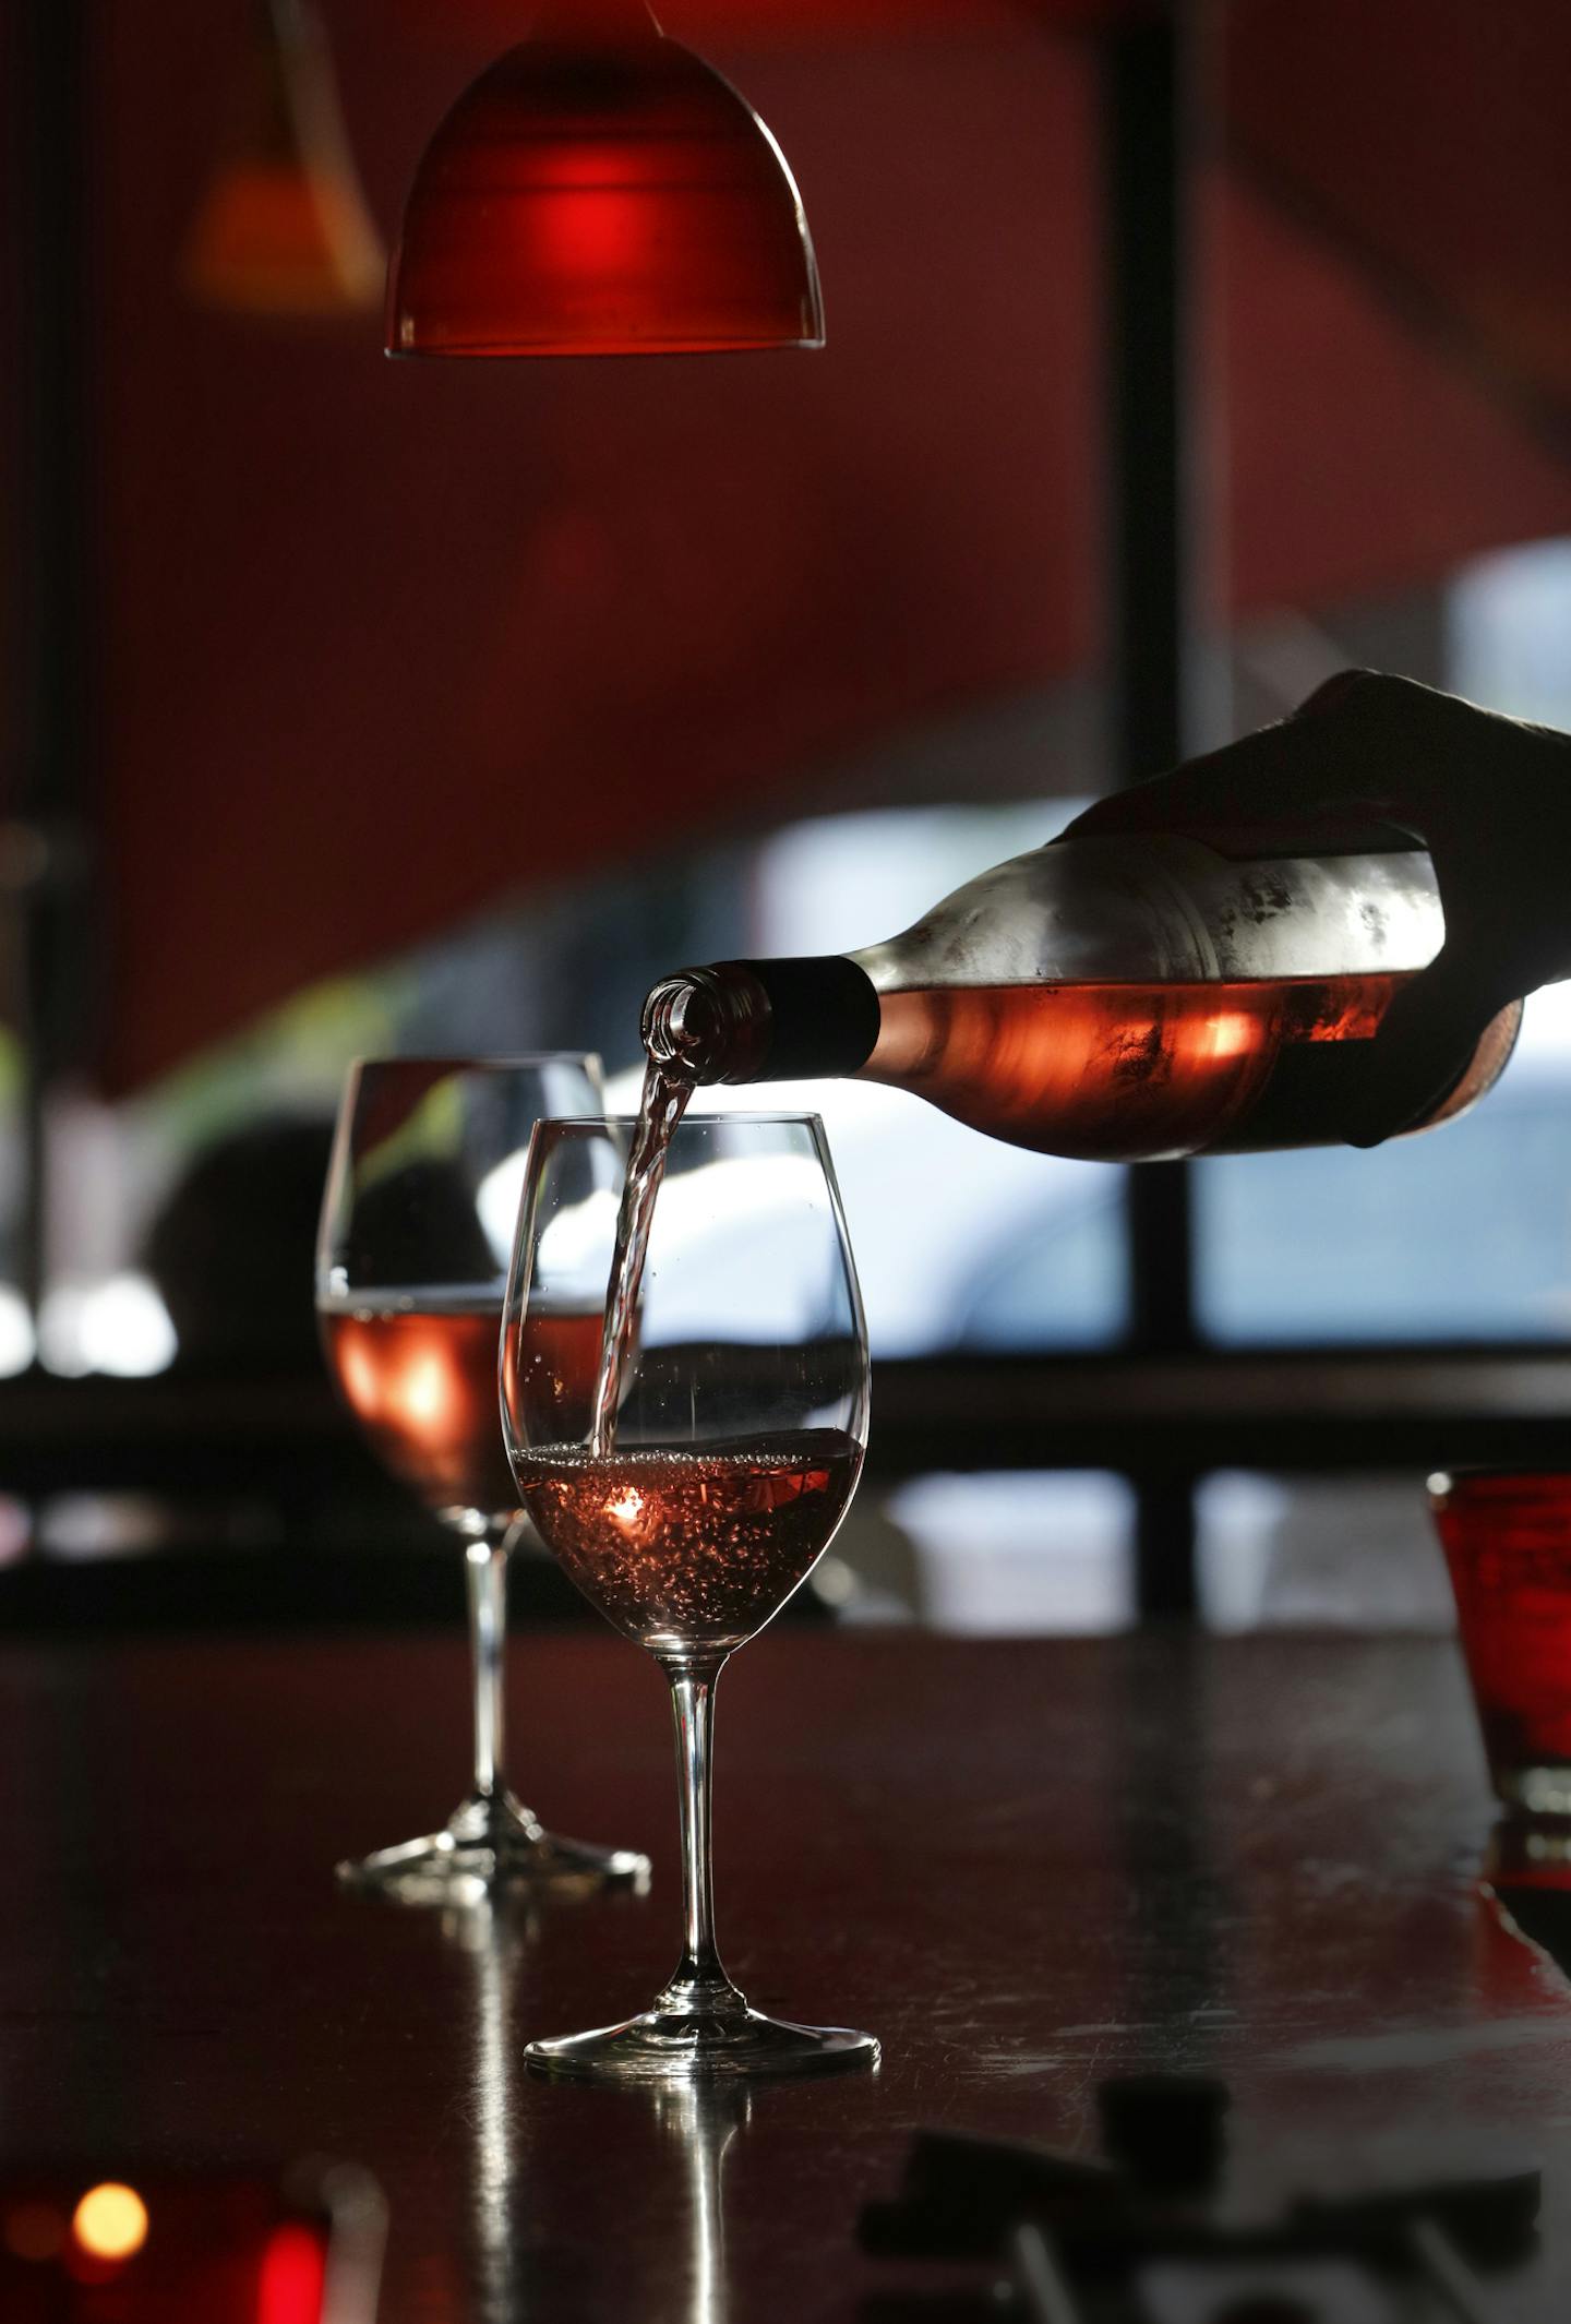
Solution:
{"label": "small blurred orange pendant lamp in the background, upper left", "polygon": [[186,246],[186,286],[244,314],[363,314],[386,253],[309,0],[258,0],[246,119]]}

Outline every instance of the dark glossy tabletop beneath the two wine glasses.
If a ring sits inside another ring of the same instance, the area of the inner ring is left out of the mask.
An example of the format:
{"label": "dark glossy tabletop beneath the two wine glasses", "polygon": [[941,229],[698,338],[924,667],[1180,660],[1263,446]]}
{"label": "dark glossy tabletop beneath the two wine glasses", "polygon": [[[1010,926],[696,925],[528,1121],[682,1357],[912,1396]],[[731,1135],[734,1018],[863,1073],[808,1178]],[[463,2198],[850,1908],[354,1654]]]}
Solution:
{"label": "dark glossy tabletop beneath the two wine glasses", "polygon": [[1234,2168],[1545,2166],[1520,2319],[1571,2312],[1571,1987],[1476,1885],[1490,1803],[1439,1641],[786,1634],[720,1690],[718,1892],[762,2008],[876,2078],[741,2110],[521,2071],[676,1952],[665,1687],[514,1648],[521,1789],[648,1899],[486,1920],[339,1896],[460,1789],[455,1641],[0,1652],[0,2166],[332,2152],[390,2201],[386,2324],[844,2319],[916,2124],[1095,2145],[1111,2071],[1234,2089]]}

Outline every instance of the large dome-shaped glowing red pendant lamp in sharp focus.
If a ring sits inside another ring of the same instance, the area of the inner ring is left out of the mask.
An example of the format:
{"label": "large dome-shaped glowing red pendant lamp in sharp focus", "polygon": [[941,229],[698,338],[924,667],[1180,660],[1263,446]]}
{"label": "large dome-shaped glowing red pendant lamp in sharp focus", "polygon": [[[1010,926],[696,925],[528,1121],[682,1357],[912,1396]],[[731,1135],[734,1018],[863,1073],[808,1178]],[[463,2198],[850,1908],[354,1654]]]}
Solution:
{"label": "large dome-shaped glowing red pendant lamp in sharp focus", "polygon": [[430,139],[390,356],[823,346],[802,198],[753,107],[644,0],[558,0]]}

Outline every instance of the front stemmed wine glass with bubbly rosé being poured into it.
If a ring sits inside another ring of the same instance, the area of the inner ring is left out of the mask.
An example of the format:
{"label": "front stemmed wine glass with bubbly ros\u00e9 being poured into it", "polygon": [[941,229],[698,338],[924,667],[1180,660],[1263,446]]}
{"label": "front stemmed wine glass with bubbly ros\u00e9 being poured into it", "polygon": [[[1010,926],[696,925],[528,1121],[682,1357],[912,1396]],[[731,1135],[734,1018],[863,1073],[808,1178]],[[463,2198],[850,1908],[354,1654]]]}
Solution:
{"label": "front stemmed wine glass with bubbly ros\u00e9 being poured into it", "polygon": [[674,1129],[623,1373],[597,1399],[607,1418],[569,1427],[535,1334],[607,1294],[632,1129],[535,1129],[502,1418],[537,1532],[672,1683],[686,1934],[641,2017],[535,2040],[525,2059],[535,2073],[632,2082],[867,2066],[869,2033],[748,2008],[716,1950],[709,1864],[716,1680],[827,1548],[867,1443],[867,1325],[823,1125],[727,1113]]}

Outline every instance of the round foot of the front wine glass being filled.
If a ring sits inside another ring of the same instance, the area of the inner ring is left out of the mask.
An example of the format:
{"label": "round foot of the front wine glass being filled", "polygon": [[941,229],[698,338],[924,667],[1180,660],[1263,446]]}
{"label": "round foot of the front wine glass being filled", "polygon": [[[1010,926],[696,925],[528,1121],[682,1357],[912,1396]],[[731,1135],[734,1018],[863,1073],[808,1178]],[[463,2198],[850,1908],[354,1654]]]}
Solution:
{"label": "round foot of the front wine glass being filled", "polygon": [[553,2082],[706,2082],[744,2075],[848,2073],[878,2064],[871,2033],[792,2027],[746,2003],[725,2015],[646,2010],[620,2027],[532,2040],[530,2073]]}

